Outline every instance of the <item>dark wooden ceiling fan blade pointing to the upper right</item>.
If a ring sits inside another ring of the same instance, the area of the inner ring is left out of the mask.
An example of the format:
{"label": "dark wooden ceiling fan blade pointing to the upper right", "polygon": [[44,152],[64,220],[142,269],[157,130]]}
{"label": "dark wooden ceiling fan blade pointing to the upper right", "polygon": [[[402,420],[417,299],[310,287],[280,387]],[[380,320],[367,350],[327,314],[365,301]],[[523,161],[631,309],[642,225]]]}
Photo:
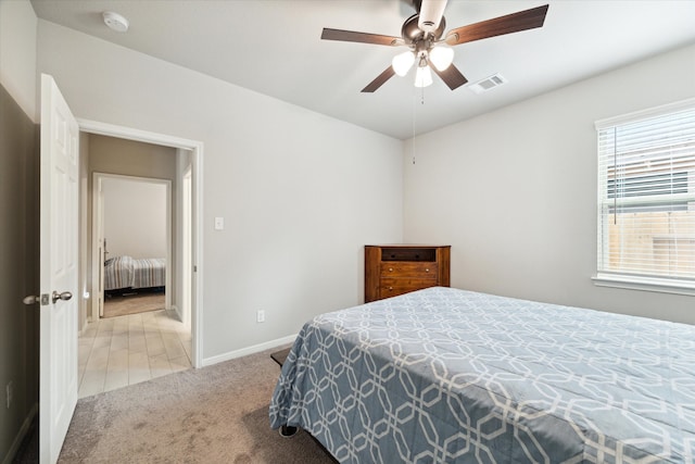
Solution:
{"label": "dark wooden ceiling fan blade pointing to the upper right", "polygon": [[542,27],[547,13],[547,4],[519,11],[505,16],[495,17],[480,23],[452,29],[446,34],[446,43],[455,46],[489,37],[518,33],[527,29]]}

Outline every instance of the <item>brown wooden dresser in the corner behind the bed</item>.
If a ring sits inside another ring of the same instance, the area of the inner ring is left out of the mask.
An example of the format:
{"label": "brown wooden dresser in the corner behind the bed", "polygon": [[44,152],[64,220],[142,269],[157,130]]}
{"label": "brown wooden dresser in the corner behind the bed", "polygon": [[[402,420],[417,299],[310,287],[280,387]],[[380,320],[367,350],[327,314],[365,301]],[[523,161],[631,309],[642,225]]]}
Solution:
{"label": "brown wooden dresser in the corner behind the bed", "polygon": [[428,287],[448,287],[451,246],[365,246],[365,303]]}

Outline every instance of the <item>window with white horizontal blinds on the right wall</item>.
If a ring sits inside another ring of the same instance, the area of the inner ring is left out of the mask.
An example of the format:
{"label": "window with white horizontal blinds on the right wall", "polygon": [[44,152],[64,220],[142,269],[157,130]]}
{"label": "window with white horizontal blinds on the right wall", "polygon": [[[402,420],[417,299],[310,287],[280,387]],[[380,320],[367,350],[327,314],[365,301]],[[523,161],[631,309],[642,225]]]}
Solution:
{"label": "window with white horizontal blinds on the right wall", "polygon": [[595,280],[695,293],[695,99],[596,129]]}

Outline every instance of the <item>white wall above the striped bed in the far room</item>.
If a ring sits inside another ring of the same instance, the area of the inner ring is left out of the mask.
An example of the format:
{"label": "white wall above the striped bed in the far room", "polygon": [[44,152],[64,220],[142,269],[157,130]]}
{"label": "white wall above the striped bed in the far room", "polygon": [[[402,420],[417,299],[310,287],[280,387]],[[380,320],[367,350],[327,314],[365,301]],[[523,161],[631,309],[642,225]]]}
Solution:
{"label": "white wall above the striped bed in the far room", "polygon": [[166,185],[106,177],[102,190],[109,258],[166,258]]}

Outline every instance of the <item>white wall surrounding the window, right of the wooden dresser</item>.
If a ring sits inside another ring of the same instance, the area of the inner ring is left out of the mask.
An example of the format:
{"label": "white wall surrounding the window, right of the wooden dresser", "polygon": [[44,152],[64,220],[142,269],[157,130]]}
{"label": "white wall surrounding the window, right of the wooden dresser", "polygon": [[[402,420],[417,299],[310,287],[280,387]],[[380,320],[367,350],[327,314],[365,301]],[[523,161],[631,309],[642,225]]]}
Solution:
{"label": "white wall surrounding the window, right of the wooden dresser", "polygon": [[417,137],[404,238],[451,243],[454,287],[695,323],[692,297],[591,281],[594,122],[694,96],[691,46]]}

